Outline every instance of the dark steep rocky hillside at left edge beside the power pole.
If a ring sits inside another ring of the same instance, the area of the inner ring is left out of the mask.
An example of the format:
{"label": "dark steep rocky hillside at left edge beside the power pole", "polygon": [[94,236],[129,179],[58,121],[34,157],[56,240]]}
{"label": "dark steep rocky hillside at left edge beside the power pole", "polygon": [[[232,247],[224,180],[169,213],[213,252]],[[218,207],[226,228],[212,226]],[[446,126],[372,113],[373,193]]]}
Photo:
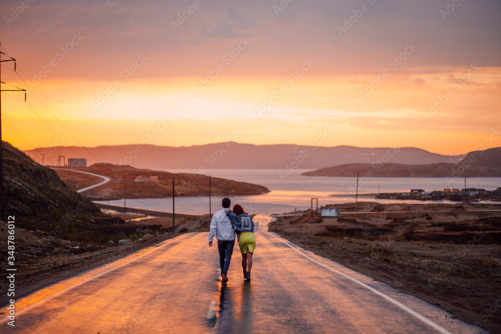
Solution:
{"label": "dark steep rocky hillside at left edge beside the power pole", "polygon": [[[138,226],[103,215],[88,198],[68,189],[54,170],[39,165],[9,143],[2,144],[4,212],[6,217],[15,216],[17,229],[86,243],[116,242],[138,233]],[[154,232],[156,227],[141,228]],[[22,247],[26,240],[16,234],[16,244]],[[3,256],[0,254],[0,259]]]}

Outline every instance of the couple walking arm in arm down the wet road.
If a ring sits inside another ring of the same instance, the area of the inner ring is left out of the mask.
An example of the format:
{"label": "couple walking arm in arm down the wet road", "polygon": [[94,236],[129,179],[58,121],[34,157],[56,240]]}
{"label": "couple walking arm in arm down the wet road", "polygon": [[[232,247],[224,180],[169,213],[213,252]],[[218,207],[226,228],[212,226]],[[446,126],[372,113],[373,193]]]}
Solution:
{"label": "couple walking arm in arm down the wet road", "polygon": [[212,216],[210,221],[209,246],[212,247],[214,234],[217,239],[217,249],[219,250],[219,265],[221,266],[221,280],[227,281],[227,272],[233,246],[235,245],[235,234],[240,252],[242,253],[243,278],[250,282],[250,269],[252,269],[252,255],[256,247],[254,237],[254,222],[252,218],[243,211],[243,208],[236,204],[233,211],[229,209],[231,200],[222,199],[222,209]]}

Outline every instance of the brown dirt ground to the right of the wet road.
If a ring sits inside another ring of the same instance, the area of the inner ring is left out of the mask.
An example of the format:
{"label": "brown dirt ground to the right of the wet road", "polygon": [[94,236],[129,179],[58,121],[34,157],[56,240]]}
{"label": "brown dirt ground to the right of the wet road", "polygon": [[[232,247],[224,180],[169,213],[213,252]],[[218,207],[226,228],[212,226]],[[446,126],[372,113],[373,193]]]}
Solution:
{"label": "brown dirt ground to the right of the wet road", "polygon": [[[281,217],[270,230],[461,320],[501,332],[501,212],[467,212],[499,210],[501,205],[337,207],[346,214]],[[348,214],[352,212],[373,213]]]}

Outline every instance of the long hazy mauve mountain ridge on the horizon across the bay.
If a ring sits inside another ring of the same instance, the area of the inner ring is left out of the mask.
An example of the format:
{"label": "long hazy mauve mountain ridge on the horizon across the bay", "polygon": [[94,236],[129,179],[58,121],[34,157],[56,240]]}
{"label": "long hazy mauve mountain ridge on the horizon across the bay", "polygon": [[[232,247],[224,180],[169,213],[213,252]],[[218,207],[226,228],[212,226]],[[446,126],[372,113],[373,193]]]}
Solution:
{"label": "long hazy mauve mountain ridge on the horizon across the bay", "polygon": [[318,169],[348,163],[383,160],[400,164],[457,163],[465,155],[446,156],[413,147],[317,147],[293,144],[252,145],[234,142],[189,147],[121,145],[50,147],[25,151],[38,162],[57,163],[58,156],[86,158],[95,163],[130,165],[147,169]]}

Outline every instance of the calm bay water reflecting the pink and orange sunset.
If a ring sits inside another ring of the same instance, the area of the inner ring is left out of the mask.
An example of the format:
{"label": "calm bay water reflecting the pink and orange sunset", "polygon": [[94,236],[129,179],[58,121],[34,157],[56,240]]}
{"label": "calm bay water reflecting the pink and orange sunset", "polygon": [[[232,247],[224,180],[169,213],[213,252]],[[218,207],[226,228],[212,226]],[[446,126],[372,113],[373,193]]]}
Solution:
{"label": "calm bay water reflecting the pink and orange sunset", "polygon": [[[172,173],[197,173],[196,170],[166,170]],[[356,177],[302,176],[307,170],[276,170],[276,169],[213,169],[205,174],[212,177],[222,177],[235,181],[260,184],[271,192],[254,196],[234,196],[231,189],[228,194],[231,205],[240,204],[250,214],[281,214],[294,210],[310,208],[316,199],[319,206],[355,202],[357,192]],[[493,190],[501,187],[500,177],[477,177],[466,179],[467,188]],[[375,199],[379,192],[409,192],[411,189],[425,191],[442,190],[444,188],[464,188],[464,178],[430,178],[430,177],[359,177],[358,201],[376,201],[379,203],[431,203],[430,201],[401,201]],[[370,194],[370,195],[364,195]],[[210,212],[221,208],[222,196],[211,198]],[[448,201],[443,201],[447,203]],[[123,206],[124,200],[98,201],[97,203]],[[149,199],[126,199],[127,207],[153,209],[172,212],[172,197]],[[209,213],[208,197],[184,197],[181,194],[175,198],[175,211],[188,214]]]}

